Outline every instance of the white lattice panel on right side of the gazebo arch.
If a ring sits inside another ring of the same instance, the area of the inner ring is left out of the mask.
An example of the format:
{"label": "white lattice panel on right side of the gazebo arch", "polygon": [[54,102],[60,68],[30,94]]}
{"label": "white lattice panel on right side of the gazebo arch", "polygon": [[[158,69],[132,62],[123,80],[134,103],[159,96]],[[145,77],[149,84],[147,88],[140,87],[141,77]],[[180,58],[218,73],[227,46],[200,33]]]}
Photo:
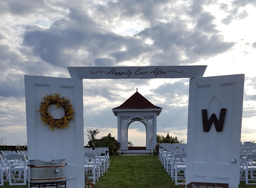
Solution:
{"label": "white lattice panel on right side of the gazebo arch", "polygon": [[155,148],[155,143],[154,143],[154,121],[155,121],[155,116],[154,115],[145,115],[141,116],[144,119],[146,119],[147,123],[147,148],[148,149],[154,149]]}

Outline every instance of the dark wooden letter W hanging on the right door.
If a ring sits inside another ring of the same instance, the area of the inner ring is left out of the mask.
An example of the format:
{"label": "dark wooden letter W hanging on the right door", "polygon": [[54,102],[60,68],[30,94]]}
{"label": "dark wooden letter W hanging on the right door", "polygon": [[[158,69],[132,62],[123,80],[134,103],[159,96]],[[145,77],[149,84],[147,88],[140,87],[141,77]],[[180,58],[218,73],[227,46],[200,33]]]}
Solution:
{"label": "dark wooden letter W hanging on the right door", "polygon": [[220,110],[219,119],[217,119],[215,114],[212,114],[209,120],[208,120],[208,117],[207,117],[207,110],[202,110],[202,119],[203,119],[204,132],[209,132],[210,131],[212,123],[214,123],[216,131],[221,132],[222,129],[223,129],[226,110],[227,110],[227,108],[222,108]]}

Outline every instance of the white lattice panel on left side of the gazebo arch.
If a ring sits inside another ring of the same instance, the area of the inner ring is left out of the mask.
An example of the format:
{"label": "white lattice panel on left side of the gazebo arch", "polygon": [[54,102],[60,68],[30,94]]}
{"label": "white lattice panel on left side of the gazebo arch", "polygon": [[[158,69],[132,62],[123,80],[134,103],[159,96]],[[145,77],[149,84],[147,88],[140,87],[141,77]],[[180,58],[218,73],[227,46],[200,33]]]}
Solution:
{"label": "white lattice panel on left side of the gazebo arch", "polygon": [[121,134],[121,149],[125,150],[128,149],[127,144],[127,124],[128,124],[128,120],[131,119],[134,116],[120,116],[119,121],[120,121],[120,132],[119,134]]}

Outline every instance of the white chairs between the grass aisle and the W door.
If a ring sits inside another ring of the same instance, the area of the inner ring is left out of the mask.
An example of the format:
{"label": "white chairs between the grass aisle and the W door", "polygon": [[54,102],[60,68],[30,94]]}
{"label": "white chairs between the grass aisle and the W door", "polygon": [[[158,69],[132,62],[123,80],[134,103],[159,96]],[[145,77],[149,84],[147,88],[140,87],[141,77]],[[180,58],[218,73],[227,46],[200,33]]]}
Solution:
{"label": "white chairs between the grass aisle and the W door", "polygon": [[159,143],[159,161],[176,185],[183,184],[185,179],[186,148],[185,143]]}

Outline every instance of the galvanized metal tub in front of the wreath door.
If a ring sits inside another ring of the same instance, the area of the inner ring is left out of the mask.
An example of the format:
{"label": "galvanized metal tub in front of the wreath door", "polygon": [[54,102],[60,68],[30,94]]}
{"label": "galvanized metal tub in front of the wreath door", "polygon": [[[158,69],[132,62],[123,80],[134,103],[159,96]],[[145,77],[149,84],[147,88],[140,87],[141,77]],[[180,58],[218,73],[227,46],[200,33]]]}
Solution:
{"label": "galvanized metal tub in front of the wreath door", "polygon": [[30,183],[54,183],[65,181],[65,159],[55,159],[50,162],[29,160]]}

